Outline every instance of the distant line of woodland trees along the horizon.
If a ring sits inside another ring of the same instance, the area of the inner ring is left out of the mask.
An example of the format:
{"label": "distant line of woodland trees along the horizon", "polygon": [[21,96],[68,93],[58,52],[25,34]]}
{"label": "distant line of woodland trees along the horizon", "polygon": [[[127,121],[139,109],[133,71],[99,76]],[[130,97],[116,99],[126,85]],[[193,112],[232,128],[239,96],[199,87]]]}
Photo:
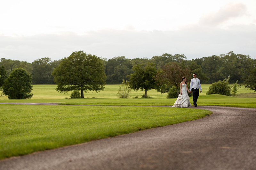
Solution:
{"label": "distant line of woodland trees along the horizon", "polygon": [[[61,60],[52,61],[50,58],[36,59],[32,63],[25,61],[0,59],[0,67],[4,66],[7,76],[12,69],[21,67],[32,75],[33,84],[55,84],[52,77],[52,71],[59,65]],[[149,58],[128,59],[125,56],[114,57],[112,59],[102,59],[107,75],[106,84],[121,84],[122,80],[128,80],[127,75],[133,73],[132,67],[135,64],[153,62],[157,69],[161,69],[166,64],[173,62],[188,68],[192,73],[196,73],[201,79],[201,83],[212,84],[218,80],[223,80],[230,76],[230,83],[238,80],[242,83],[245,80],[250,64],[256,59],[249,55],[235,54],[233,51],[227,54],[212,55],[203,58],[187,60],[185,55],[181,54],[163,54]]]}

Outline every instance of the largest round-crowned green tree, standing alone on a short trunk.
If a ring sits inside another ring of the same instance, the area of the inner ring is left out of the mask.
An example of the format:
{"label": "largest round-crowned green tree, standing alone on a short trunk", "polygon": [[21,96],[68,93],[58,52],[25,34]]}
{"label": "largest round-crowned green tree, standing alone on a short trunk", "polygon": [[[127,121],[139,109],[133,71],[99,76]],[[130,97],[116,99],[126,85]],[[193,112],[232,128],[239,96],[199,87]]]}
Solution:
{"label": "largest round-crowned green tree, standing alone on a short trunk", "polygon": [[106,81],[102,59],[84,51],[76,51],[63,58],[52,75],[58,92],[80,90],[81,98],[88,90],[103,90]]}

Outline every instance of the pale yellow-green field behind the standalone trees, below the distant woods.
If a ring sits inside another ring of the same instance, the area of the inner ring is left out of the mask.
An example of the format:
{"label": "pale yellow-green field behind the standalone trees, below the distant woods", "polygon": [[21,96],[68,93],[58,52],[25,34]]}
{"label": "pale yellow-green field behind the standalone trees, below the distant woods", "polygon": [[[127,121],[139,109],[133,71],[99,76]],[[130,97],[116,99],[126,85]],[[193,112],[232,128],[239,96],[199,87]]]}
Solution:
{"label": "pale yellow-green field behind the standalone trees, below the distant woods", "polygon": [[[88,91],[87,93],[84,93],[84,98],[108,98],[108,99],[117,99],[117,92],[118,92],[118,87],[120,85],[105,85],[105,89],[100,91],[100,92],[90,92]],[[71,92],[64,94],[57,92],[56,89],[57,85],[33,85],[33,90],[32,93],[34,96],[31,98],[31,100],[34,99],[42,99],[42,102],[44,99],[65,99],[65,98],[70,98]],[[202,85],[202,93],[199,93],[199,96],[206,95],[206,92],[208,91],[210,87],[210,84],[203,84]],[[244,86],[242,86],[238,90],[238,94],[241,93],[253,93],[254,91],[244,89]],[[139,98],[141,97],[142,94],[145,92],[143,91],[131,91],[131,98],[138,96]],[[255,92],[254,92],[255,93]],[[157,92],[156,90],[149,90],[147,94],[150,97],[153,97],[155,99],[166,99],[167,93],[161,94],[160,92]],[[256,93],[255,93],[256,94]],[[252,96],[252,95],[251,95]],[[256,97],[252,96],[252,97]],[[0,96],[0,100],[5,100],[8,99],[7,96]],[[1,101],[0,101],[1,102]],[[31,102],[31,101],[30,101]]]}

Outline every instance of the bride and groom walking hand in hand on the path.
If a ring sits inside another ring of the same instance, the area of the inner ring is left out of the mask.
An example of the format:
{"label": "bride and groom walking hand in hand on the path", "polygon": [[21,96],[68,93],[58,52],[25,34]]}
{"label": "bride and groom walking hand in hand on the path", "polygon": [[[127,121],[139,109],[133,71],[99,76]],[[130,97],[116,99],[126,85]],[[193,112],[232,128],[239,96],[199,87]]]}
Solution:
{"label": "bride and groom walking hand in hand on the path", "polygon": [[186,77],[182,78],[182,82],[180,83],[180,94],[172,107],[192,107],[189,102],[189,96],[187,93],[187,91],[191,93],[191,89],[193,93],[193,104],[195,107],[197,106],[196,101],[199,96],[199,89],[201,93],[202,88],[201,88],[200,80],[196,78],[197,77],[196,73],[193,74],[193,77],[194,78],[192,78],[190,82],[189,90],[186,82],[187,78]]}

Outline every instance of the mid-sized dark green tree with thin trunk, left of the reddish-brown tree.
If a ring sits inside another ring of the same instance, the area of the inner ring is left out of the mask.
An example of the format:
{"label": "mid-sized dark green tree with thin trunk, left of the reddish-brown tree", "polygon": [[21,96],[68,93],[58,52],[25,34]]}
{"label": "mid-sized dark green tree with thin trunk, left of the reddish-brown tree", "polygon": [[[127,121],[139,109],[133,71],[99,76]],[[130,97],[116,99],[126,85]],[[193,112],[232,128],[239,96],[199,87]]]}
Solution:
{"label": "mid-sized dark green tree with thin trunk, left of the reddish-brown tree", "polygon": [[136,64],[132,70],[134,73],[128,76],[131,89],[145,91],[145,97],[147,97],[148,90],[158,88],[155,78],[157,70],[154,63]]}

